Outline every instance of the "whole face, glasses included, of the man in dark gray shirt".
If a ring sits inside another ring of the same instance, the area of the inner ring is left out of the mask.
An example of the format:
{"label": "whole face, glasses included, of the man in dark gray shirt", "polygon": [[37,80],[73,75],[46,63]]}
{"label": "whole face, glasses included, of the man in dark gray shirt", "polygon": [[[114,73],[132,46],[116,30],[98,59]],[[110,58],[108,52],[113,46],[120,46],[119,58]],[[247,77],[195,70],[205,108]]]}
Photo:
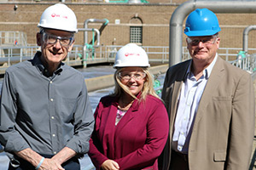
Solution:
{"label": "whole face, glasses included, of the man in dark gray shirt", "polygon": [[59,65],[73,48],[73,33],[68,31],[44,29],[37,35],[41,46],[42,59],[49,66]]}

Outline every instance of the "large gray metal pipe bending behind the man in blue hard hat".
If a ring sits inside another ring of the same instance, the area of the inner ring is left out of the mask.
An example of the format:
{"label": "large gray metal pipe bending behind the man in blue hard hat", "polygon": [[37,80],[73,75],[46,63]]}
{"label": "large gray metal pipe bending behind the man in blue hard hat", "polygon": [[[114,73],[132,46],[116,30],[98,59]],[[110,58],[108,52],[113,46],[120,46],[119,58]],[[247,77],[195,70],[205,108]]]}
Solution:
{"label": "large gray metal pipe bending behind the man in blue hard hat", "polygon": [[256,13],[253,1],[190,0],[178,6],[170,20],[169,65],[182,61],[183,20],[196,8],[208,8],[213,13]]}

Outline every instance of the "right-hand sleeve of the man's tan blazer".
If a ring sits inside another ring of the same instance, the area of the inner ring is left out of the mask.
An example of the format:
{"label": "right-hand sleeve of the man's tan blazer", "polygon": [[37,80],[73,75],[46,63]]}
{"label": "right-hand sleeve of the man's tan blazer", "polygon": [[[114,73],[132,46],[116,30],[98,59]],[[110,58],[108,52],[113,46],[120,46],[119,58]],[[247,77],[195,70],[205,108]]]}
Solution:
{"label": "right-hand sleeve of the man's tan blazer", "polygon": [[254,136],[254,91],[251,76],[241,75],[232,102],[227,170],[248,169]]}

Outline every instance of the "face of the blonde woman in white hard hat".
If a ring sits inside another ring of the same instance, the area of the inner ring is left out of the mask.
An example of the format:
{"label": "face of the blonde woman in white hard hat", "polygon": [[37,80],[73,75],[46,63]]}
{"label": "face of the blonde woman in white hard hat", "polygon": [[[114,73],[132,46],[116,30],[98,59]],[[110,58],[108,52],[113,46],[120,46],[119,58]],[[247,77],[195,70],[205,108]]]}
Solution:
{"label": "face of the blonde woman in white hard hat", "polygon": [[119,72],[120,82],[135,96],[143,90],[145,77],[146,73],[137,66],[125,67]]}

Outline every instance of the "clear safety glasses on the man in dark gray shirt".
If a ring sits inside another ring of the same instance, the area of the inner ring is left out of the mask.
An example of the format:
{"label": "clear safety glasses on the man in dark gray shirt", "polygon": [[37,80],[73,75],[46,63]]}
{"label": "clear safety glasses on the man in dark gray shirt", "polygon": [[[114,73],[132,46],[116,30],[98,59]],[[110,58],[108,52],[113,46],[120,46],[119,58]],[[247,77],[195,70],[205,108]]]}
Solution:
{"label": "clear safety glasses on the man in dark gray shirt", "polygon": [[48,44],[55,44],[59,40],[62,47],[68,47],[73,43],[73,39],[73,37],[59,37],[43,31],[43,41]]}

